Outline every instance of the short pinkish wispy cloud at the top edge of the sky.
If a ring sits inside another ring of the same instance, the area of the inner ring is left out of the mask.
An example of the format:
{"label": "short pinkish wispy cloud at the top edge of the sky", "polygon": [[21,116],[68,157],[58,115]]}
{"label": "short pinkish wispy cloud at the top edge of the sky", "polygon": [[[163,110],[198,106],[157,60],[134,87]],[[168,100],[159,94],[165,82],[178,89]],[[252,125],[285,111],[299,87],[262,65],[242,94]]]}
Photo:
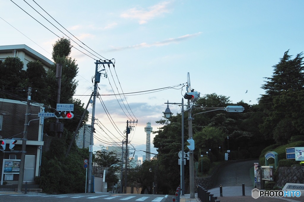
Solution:
{"label": "short pinkish wispy cloud at the top edge of the sky", "polygon": [[147,23],[148,20],[161,16],[164,13],[169,13],[169,5],[171,1],[161,2],[148,9],[132,8],[122,13],[120,16],[123,18],[138,19],[139,24]]}

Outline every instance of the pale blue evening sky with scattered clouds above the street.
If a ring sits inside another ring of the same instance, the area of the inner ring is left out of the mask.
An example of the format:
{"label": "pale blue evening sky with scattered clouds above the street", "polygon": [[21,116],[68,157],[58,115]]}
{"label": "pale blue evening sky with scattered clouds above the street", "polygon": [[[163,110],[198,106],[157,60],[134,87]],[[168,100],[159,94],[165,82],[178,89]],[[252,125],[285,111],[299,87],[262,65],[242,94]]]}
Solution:
{"label": "pale blue evening sky with scattered clouds above the street", "polygon": [[[52,45],[70,37],[78,49],[70,55],[79,68],[74,98],[85,106],[96,60],[115,61],[115,68],[98,67],[107,76],[98,84],[102,102],[96,99],[95,118],[101,127],[95,126],[93,150],[111,146],[105,142],[121,145],[127,120],[137,120],[129,141],[140,158],[144,127],[151,122],[157,131],[164,103],[181,103],[188,72],[191,88],[202,96],[216,93],[232,103],[257,104],[265,78],[285,51],[293,56],[304,51],[303,8],[302,0],[2,0],[0,45],[26,44],[52,60]],[[125,96],[109,96],[119,93]],[[92,115],[91,105],[88,110]],[[154,137],[151,153],[157,153]]]}

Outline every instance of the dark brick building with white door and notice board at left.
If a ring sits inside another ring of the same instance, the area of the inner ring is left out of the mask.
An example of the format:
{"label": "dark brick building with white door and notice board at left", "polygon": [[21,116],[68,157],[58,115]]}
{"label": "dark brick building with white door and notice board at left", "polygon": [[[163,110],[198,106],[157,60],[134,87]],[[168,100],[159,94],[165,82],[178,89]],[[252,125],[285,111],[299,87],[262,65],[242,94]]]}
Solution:
{"label": "dark brick building with white door and notice board at left", "polygon": [[[18,184],[26,105],[26,102],[0,99],[0,136],[6,141],[5,150],[0,155],[1,185],[4,182]],[[44,107],[31,103],[30,109],[23,182],[33,183],[35,176],[40,174],[43,119],[39,119],[38,113],[43,112]],[[17,142],[10,150],[9,142],[13,138]]]}

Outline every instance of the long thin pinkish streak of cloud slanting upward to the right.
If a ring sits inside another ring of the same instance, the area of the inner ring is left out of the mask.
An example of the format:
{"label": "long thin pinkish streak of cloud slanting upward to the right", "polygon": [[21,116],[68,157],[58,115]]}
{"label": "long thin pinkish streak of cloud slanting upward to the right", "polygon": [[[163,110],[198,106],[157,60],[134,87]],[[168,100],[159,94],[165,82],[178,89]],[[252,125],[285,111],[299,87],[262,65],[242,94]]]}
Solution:
{"label": "long thin pinkish streak of cloud slanting upward to the right", "polygon": [[166,39],[166,40],[163,40],[163,41],[160,41],[160,42],[154,42],[152,44],[148,44],[148,43],[143,42],[143,43],[132,45],[132,46],[115,47],[115,48],[112,48],[110,50],[107,50],[107,52],[134,49],[134,48],[153,47],[153,46],[165,46],[165,45],[169,45],[169,44],[172,44],[172,43],[178,43],[180,41],[188,40],[190,38],[193,38],[193,37],[196,37],[196,36],[200,35],[201,33],[202,32],[198,32],[198,33],[195,33],[195,34],[186,34],[186,35],[181,36],[181,37],[170,38],[170,39]]}

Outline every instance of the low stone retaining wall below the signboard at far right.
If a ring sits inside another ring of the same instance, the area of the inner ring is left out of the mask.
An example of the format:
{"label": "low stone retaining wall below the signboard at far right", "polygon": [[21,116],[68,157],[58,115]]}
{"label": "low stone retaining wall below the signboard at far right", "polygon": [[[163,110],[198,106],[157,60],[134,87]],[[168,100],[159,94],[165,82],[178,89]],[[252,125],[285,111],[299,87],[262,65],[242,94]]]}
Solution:
{"label": "low stone retaining wall below the signboard at far right", "polygon": [[304,166],[278,167],[275,182],[277,186],[285,186],[286,183],[304,184]]}

